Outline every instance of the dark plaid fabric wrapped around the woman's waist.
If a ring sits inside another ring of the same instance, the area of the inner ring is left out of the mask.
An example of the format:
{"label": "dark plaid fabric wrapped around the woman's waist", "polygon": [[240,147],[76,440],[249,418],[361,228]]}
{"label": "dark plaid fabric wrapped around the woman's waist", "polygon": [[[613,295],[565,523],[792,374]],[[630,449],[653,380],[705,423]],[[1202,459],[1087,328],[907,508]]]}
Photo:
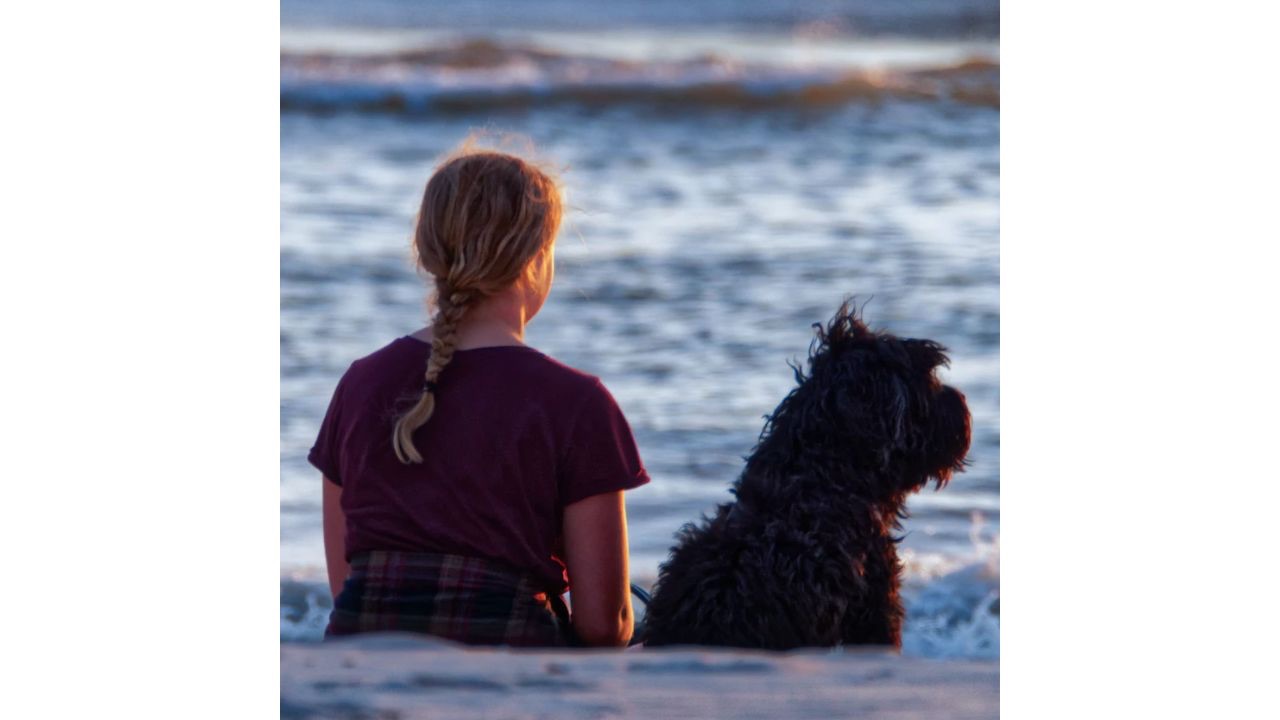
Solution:
{"label": "dark plaid fabric wrapped around the woman's waist", "polygon": [[468,644],[566,644],[547,592],[532,575],[461,555],[375,551],[352,556],[325,637],[381,630]]}

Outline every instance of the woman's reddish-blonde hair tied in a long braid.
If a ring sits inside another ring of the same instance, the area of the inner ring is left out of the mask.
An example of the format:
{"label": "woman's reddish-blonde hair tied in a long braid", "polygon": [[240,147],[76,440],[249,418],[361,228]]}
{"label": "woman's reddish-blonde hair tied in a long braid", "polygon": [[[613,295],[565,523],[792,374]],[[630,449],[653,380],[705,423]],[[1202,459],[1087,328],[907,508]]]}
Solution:
{"label": "woman's reddish-blonde hair tied in a long braid", "polygon": [[516,282],[554,242],[562,214],[559,188],[547,172],[470,141],[428,181],[413,249],[421,269],[435,279],[436,313],[422,393],[392,433],[401,462],[422,461],[413,432],[435,410],[436,383],[453,359],[467,309]]}

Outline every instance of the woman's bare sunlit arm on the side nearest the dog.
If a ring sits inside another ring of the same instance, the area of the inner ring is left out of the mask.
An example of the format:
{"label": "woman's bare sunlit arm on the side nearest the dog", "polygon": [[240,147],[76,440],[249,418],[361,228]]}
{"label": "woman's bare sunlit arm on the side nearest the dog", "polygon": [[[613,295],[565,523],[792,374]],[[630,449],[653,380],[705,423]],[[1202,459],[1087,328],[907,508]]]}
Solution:
{"label": "woman's bare sunlit arm on the side nearest the dog", "polygon": [[564,565],[579,639],[589,646],[626,647],[632,618],[622,491],[564,507]]}

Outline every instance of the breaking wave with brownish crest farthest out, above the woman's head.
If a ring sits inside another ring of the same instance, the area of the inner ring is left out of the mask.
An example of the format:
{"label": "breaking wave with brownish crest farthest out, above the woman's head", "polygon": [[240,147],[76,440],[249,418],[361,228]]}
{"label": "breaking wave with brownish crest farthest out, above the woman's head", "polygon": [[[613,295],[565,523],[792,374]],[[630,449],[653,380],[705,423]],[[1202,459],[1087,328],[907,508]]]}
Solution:
{"label": "breaking wave with brownish crest farthest out, above the woman's head", "polygon": [[280,55],[285,111],[463,111],[556,102],[749,109],[895,97],[998,108],[1000,65],[970,58],[915,68],[805,67],[718,54],[635,60],[493,40],[376,54]]}

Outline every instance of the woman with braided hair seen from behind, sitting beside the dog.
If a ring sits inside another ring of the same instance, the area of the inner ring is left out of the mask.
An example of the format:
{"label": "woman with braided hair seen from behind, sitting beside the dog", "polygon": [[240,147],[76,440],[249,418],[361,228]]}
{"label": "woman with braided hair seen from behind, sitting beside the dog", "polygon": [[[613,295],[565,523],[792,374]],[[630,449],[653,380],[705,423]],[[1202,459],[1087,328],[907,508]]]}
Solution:
{"label": "woman with braided hair seen from behind, sitting beside the dog", "polygon": [[[622,492],[649,477],[599,379],[524,343],[561,215],[556,183],[511,155],[463,150],[428,182],[413,245],[434,320],[351,365],[308,456],[326,637],[630,641]],[[570,583],[571,629],[553,611]]]}

